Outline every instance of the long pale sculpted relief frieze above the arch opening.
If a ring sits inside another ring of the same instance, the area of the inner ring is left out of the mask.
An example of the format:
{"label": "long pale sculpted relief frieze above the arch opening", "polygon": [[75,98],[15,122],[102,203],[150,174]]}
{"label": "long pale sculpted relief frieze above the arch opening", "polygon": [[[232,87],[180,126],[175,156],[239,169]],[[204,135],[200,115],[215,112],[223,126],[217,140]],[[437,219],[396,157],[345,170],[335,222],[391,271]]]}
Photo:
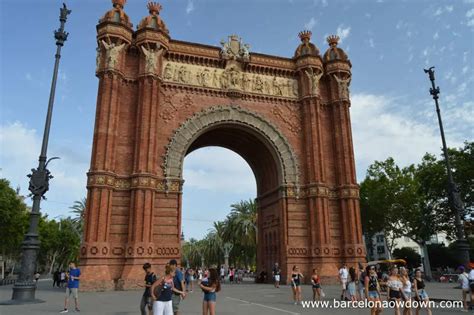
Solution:
{"label": "long pale sculpted relief frieze above the arch opening", "polygon": [[218,69],[167,61],[163,67],[163,80],[215,89],[298,98],[297,80],[247,73],[237,66]]}

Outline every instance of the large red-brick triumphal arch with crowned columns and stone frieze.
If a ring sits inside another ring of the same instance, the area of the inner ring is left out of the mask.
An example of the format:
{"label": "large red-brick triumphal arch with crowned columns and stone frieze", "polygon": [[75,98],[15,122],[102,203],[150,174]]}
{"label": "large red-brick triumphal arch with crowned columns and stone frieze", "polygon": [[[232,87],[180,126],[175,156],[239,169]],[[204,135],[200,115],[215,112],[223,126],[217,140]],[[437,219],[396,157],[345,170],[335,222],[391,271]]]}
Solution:
{"label": "large red-brick triumphal arch with crowned columns and stone frieze", "polygon": [[[151,262],[180,258],[184,157],[205,146],[241,155],[257,182],[257,270],[294,264],[327,277],[365,259],[350,123],[351,63],[329,36],[299,33],[293,57],[171,38],[161,5],[137,28],[125,0],[97,25],[99,89],[83,289],[131,288]],[[212,201],[209,201],[212,203]],[[205,214],[203,214],[205,215]]]}

